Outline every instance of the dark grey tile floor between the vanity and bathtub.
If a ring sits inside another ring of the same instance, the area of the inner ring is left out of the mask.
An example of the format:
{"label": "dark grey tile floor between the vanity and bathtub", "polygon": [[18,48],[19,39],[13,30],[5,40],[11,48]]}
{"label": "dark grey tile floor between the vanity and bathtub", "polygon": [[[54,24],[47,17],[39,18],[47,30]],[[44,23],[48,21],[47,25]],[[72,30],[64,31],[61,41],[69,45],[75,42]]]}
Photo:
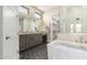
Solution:
{"label": "dark grey tile floor between the vanity and bathtub", "polygon": [[21,59],[47,59],[46,43],[26,50],[20,54]]}

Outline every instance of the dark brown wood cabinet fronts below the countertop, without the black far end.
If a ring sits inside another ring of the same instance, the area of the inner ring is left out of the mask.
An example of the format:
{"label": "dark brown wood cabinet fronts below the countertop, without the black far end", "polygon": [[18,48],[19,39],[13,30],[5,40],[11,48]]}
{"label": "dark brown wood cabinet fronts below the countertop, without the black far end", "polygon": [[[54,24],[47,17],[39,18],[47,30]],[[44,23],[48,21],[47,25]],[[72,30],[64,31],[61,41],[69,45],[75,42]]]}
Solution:
{"label": "dark brown wood cabinet fronts below the countertop, without the black far end", "polygon": [[20,51],[33,47],[42,43],[42,34],[22,34],[20,35]]}

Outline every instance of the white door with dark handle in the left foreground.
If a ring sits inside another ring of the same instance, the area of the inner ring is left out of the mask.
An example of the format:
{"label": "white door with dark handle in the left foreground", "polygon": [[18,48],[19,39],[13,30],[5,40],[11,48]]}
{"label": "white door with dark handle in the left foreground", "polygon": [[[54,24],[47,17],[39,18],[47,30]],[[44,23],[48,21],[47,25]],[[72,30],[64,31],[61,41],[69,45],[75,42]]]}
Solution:
{"label": "white door with dark handle in the left foreground", "polygon": [[18,7],[3,7],[3,58],[19,58]]}

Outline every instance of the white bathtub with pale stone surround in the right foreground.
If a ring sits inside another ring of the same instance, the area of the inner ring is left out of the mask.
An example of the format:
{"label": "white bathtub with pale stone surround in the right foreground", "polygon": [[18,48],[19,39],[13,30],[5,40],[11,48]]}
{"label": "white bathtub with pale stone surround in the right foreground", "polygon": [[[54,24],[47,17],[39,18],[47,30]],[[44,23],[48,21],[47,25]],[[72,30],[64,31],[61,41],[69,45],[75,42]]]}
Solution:
{"label": "white bathtub with pale stone surround in the right foreground", "polygon": [[47,44],[48,59],[87,59],[87,44],[53,41]]}

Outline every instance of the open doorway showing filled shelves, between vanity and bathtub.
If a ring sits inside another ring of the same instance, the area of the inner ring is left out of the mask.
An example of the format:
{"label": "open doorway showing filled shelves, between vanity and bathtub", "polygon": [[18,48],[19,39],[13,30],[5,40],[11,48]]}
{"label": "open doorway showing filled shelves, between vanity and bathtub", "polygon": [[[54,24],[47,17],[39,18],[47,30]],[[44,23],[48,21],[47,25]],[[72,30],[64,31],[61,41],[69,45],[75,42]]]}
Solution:
{"label": "open doorway showing filled shelves, between vanity and bathtub", "polygon": [[57,15],[53,15],[51,23],[50,23],[50,28],[51,28],[51,42],[57,39],[57,33],[61,33],[61,22],[59,22],[59,18]]}

